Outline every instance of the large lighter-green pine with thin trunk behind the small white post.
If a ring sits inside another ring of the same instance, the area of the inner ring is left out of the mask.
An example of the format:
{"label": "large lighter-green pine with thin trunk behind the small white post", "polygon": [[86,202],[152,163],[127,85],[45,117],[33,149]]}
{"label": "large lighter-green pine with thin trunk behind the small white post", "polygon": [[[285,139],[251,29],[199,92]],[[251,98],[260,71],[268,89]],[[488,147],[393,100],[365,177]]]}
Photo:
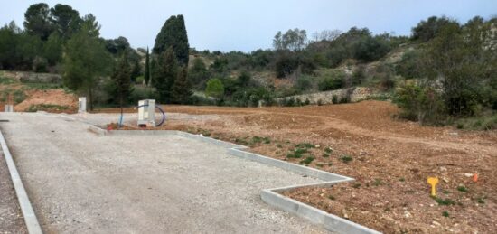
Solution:
{"label": "large lighter-green pine with thin trunk behind the small white post", "polygon": [[65,85],[86,93],[90,110],[93,109],[93,91],[98,78],[108,74],[112,64],[103,40],[98,38],[99,28],[94,16],[85,16],[80,31],[67,42],[63,58]]}

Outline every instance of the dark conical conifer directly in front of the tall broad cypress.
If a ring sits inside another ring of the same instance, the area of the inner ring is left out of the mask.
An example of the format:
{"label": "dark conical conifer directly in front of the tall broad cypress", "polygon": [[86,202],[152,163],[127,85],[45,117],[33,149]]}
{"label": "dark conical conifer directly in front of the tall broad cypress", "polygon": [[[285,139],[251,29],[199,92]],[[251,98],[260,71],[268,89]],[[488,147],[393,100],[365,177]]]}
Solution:
{"label": "dark conical conifer directly in front of the tall broad cypress", "polygon": [[173,47],[169,47],[159,56],[156,65],[154,66],[154,76],[152,77],[152,85],[157,90],[157,96],[162,102],[171,102],[171,90],[173,88],[174,79],[178,74],[178,64]]}

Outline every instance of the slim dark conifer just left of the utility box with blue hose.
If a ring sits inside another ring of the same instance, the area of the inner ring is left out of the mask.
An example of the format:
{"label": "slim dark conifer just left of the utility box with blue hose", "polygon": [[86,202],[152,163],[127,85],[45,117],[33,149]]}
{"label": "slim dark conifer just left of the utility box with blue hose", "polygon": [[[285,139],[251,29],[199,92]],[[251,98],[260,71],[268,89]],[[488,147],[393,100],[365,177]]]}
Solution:
{"label": "slim dark conifer just left of the utility box with blue hose", "polygon": [[121,59],[117,63],[117,67],[112,74],[112,80],[116,85],[116,95],[119,105],[122,108],[127,102],[129,95],[132,92],[131,87],[131,68],[127,61],[127,53],[123,53]]}

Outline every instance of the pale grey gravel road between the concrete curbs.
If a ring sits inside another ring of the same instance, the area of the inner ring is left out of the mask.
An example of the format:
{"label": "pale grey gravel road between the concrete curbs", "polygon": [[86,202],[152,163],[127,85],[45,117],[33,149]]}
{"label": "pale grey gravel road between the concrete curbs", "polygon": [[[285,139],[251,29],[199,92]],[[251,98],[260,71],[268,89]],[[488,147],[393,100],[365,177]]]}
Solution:
{"label": "pale grey gravel road between the concrete curbs", "polygon": [[321,233],[261,201],[313,178],[181,136],[96,136],[59,115],[1,123],[45,233]]}

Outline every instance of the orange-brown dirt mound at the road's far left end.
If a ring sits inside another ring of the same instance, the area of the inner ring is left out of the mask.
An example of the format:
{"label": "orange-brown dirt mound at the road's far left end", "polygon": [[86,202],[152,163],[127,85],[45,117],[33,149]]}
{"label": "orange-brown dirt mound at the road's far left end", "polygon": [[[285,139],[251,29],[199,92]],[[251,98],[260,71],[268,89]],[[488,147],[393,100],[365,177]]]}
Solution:
{"label": "orange-brown dirt mound at the road's far left end", "polygon": [[[62,89],[29,90],[26,92],[26,95],[28,98],[15,105],[14,111],[27,111],[32,106],[40,105],[61,107],[62,112],[74,112],[78,109],[78,99],[74,95],[64,92]],[[54,108],[54,111],[61,112],[57,111],[56,108]]]}

